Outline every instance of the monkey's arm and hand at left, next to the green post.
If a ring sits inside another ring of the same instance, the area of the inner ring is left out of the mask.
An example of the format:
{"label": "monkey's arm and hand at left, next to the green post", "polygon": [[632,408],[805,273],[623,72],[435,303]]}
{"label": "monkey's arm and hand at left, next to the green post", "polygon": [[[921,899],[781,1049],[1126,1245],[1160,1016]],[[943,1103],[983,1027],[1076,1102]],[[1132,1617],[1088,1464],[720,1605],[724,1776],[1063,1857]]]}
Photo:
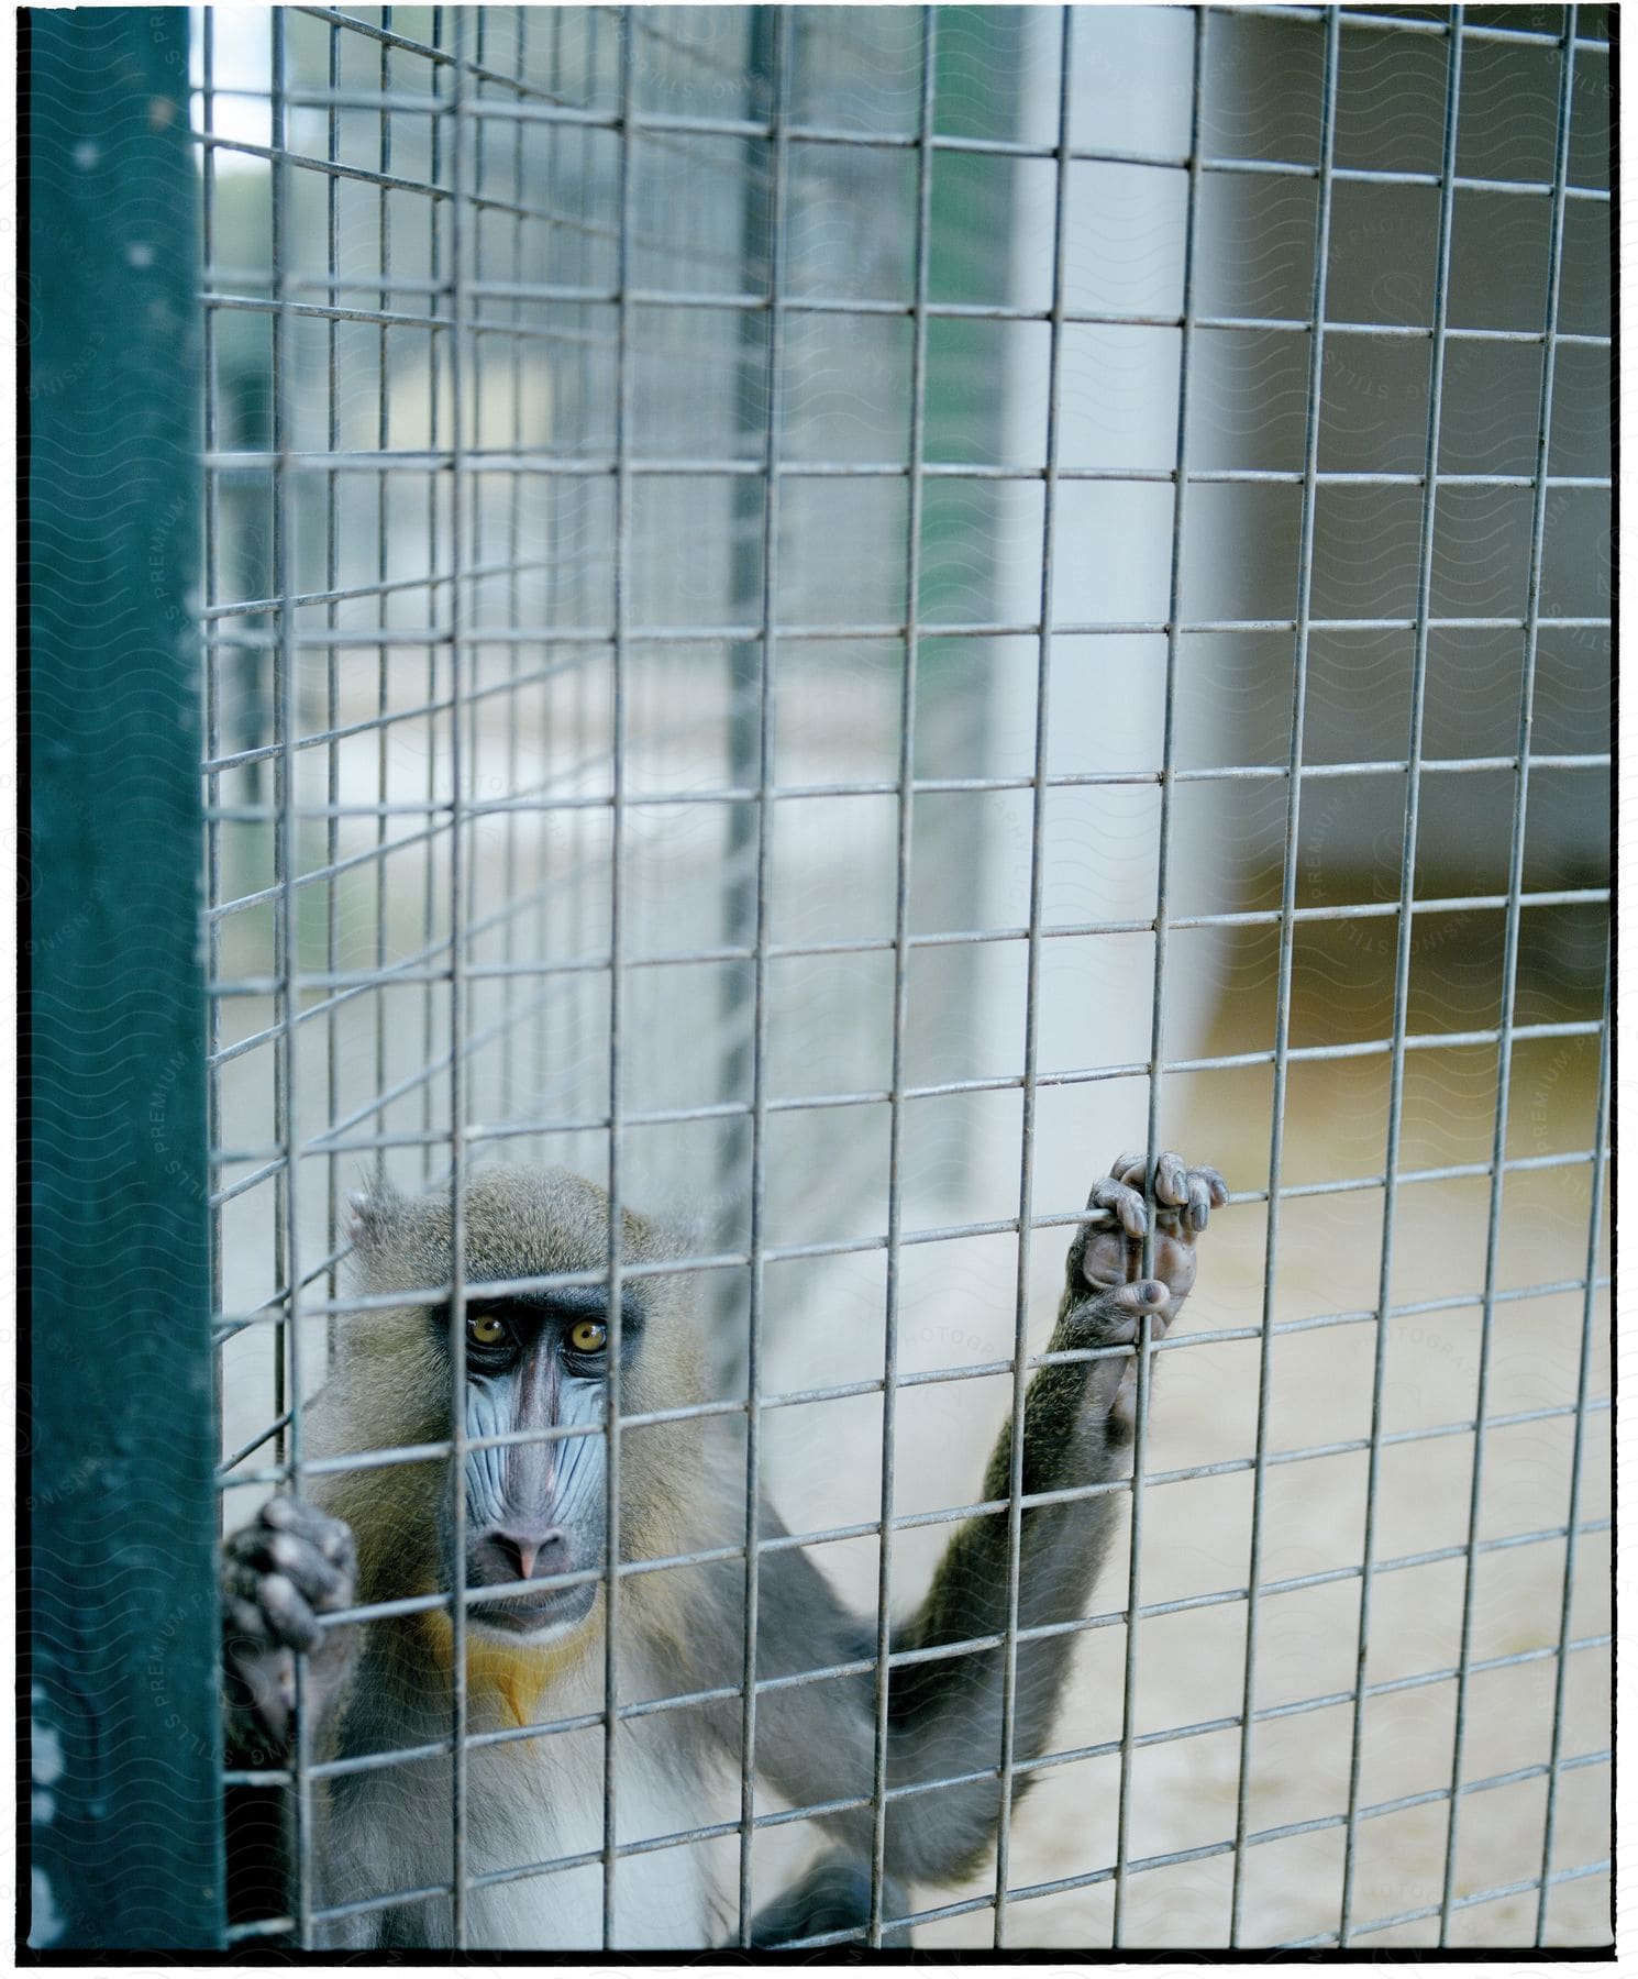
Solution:
{"label": "monkey's arm and hand at left, next to the green post", "polygon": [[[301,1498],[269,1498],[231,1534],[222,1557],[222,1716],[229,1771],[291,1763],[295,1656],[307,1652],[305,1708],[322,1749],[346,1678],[354,1629],[320,1629],[318,1615],[352,1605],[354,1548],[340,1520]],[[285,1787],[229,1787],[228,1920],[289,1916],[291,1795]],[[277,1943],[277,1939],[263,1939]]]}

